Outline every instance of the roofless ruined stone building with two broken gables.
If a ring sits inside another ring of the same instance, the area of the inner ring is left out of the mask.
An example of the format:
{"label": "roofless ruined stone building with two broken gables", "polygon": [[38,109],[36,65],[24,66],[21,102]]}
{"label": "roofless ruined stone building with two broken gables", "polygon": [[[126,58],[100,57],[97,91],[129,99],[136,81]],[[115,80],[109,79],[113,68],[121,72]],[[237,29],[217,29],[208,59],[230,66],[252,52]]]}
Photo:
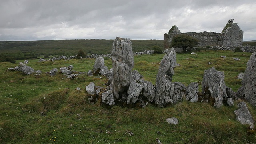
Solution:
{"label": "roofless ruined stone building with two broken gables", "polygon": [[172,37],[186,34],[199,40],[198,46],[242,46],[244,32],[239,28],[234,19],[228,20],[221,33],[216,32],[184,32],[181,33],[177,26],[172,26],[168,34],[164,34],[164,47],[169,48]]}

